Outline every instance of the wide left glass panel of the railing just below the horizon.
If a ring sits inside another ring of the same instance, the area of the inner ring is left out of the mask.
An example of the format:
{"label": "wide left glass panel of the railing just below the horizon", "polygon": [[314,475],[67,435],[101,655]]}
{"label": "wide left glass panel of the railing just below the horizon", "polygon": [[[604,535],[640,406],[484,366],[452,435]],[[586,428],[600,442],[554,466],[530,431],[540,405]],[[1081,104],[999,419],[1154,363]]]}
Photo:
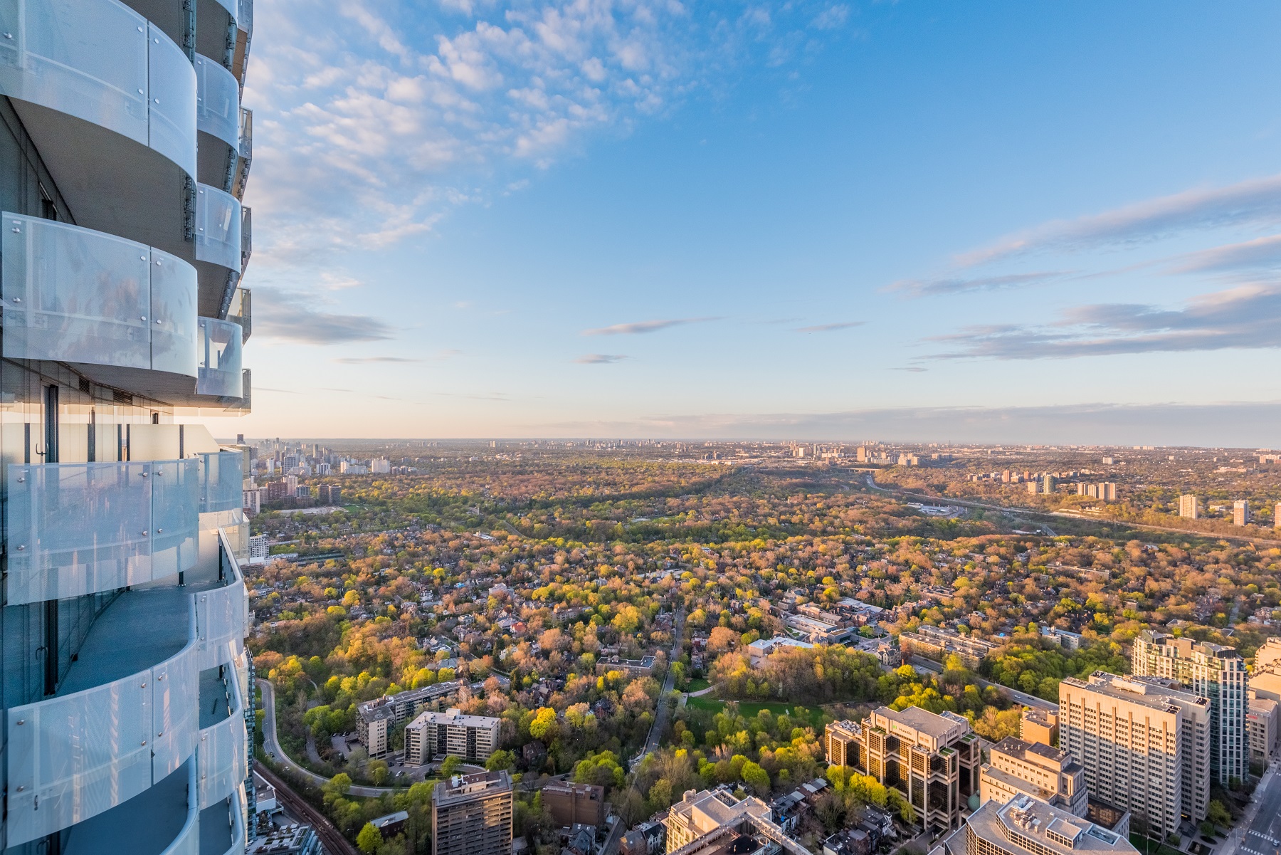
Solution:
{"label": "wide left glass panel of the railing just below the horizon", "polygon": [[[9,604],[151,579],[146,463],[9,467]],[[191,511],[196,510],[191,505]]]}

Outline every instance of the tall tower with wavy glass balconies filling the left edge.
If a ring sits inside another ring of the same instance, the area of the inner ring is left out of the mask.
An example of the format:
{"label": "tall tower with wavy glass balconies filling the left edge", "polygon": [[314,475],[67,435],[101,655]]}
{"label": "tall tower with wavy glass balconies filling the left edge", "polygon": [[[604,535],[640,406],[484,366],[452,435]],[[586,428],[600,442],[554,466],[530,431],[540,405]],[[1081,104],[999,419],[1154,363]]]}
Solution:
{"label": "tall tower with wavy glass balconies filling the left edge", "polygon": [[178,423],[250,409],[251,13],[0,4],[6,852],[252,834],[243,455]]}

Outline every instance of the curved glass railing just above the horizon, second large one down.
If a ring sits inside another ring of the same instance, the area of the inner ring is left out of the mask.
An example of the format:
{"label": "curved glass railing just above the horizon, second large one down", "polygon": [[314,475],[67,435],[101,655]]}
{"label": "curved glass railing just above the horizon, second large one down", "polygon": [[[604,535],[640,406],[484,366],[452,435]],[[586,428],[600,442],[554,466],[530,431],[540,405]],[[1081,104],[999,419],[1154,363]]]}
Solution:
{"label": "curved glass railing just above the horizon, second large one down", "polygon": [[3,217],[5,356],[197,376],[196,268],[94,229]]}

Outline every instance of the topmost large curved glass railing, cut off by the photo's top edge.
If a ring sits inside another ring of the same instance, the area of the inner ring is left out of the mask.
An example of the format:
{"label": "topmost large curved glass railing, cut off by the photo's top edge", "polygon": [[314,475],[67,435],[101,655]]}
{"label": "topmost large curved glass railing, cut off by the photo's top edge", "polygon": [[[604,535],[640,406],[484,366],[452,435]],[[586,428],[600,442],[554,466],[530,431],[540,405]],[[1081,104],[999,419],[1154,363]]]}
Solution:
{"label": "topmost large curved glass railing, cut off by the photo's top edge", "polygon": [[0,95],[114,131],[196,176],[195,69],[123,3],[0,3]]}

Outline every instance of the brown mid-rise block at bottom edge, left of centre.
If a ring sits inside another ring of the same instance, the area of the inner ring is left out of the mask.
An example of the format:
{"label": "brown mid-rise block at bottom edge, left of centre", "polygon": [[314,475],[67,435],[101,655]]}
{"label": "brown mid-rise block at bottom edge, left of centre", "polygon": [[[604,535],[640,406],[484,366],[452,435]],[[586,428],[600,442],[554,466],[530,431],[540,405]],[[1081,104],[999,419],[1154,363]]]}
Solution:
{"label": "brown mid-rise block at bottom edge, left of centre", "polygon": [[511,855],[511,777],[478,772],[432,791],[432,855]]}

